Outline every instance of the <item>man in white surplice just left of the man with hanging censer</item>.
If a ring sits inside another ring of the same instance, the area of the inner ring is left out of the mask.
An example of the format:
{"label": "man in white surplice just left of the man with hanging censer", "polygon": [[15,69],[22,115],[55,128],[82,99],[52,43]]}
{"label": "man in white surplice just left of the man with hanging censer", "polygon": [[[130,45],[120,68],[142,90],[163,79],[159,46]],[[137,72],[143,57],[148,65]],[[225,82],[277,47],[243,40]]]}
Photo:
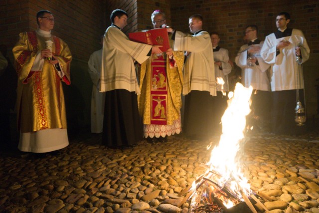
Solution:
{"label": "man in white surplice just left of the man with hanging censer", "polygon": [[241,83],[245,87],[252,86],[254,91],[251,96],[251,114],[248,118],[248,125],[255,130],[269,131],[270,117],[270,65],[260,55],[264,41],[257,37],[257,25],[248,25],[245,28],[245,35],[248,43],[240,47],[235,58],[235,63],[242,70]]}

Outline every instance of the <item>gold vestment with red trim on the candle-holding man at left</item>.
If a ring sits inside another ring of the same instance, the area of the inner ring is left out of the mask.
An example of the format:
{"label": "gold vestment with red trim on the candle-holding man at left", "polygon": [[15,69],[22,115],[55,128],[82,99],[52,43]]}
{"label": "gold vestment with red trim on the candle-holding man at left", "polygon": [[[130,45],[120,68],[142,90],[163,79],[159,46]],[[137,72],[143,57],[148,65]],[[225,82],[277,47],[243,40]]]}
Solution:
{"label": "gold vestment with red trim on the candle-holding man at left", "polygon": [[[40,51],[47,48],[46,40],[53,41],[52,55],[59,66],[40,57]],[[20,39],[12,51],[18,74],[18,129],[21,133],[66,129],[61,81],[70,84],[72,56],[67,44],[50,33],[42,35],[38,29],[37,32],[20,33]]]}

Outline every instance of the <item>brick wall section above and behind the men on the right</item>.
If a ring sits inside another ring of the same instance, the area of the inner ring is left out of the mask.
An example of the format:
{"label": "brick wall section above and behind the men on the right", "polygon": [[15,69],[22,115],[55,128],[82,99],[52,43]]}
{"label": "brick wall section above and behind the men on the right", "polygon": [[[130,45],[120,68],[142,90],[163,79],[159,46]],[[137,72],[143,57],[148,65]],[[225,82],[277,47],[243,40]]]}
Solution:
{"label": "brick wall section above and behind the men on the right", "polygon": [[173,0],[170,4],[172,25],[176,29],[189,32],[188,17],[194,13],[202,14],[204,29],[220,33],[220,45],[229,50],[231,58],[243,44],[246,25],[257,24],[259,37],[264,39],[276,30],[276,14],[281,11],[291,14],[289,27],[305,33],[311,52],[319,52],[317,0]]}

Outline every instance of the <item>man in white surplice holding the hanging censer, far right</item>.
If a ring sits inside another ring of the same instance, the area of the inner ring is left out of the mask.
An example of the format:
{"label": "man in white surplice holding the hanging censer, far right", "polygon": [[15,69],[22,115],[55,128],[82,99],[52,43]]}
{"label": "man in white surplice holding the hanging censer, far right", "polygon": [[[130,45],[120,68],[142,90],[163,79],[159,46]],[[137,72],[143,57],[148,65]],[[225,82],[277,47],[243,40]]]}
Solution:
{"label": "man in white surplice holding the hanging censer, far right", "polygon": [[302,64],[309,59],[310,49],[303,32],[288,28],[289,22],[290,14],[280,12],[276,16],[278,30],[266,36],[261,49],[262,58],[271,65],[272,132],[278,134],[306,130],[295,123],[295,107],[297,90],[304,101]]}

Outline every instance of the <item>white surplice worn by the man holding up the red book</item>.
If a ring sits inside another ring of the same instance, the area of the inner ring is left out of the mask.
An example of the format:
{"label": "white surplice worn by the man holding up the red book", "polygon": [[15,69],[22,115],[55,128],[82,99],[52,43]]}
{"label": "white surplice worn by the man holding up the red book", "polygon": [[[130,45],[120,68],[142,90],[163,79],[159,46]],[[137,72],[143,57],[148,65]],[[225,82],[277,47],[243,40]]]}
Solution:
{"label": "white surplice worn by the man holding up the red book", "polygon": [[126,89],[140,94],[134,60],[142,64],[152,46],[129,40],[115,25],[107,28],[103,39],[100,91]]}

